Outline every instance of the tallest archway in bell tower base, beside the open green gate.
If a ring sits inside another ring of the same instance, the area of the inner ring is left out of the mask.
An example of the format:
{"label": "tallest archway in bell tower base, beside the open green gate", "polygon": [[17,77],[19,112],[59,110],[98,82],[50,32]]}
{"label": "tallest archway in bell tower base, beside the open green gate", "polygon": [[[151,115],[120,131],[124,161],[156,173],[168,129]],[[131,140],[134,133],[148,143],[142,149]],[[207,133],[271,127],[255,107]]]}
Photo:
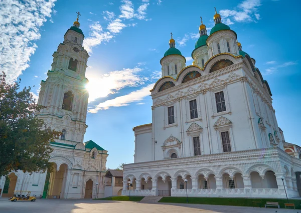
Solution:
{"label": "tallest archway in bell tower base, beside the open green gate", "polygon": [[68,165],[63,163],[59,170],[53,164],[54,171],[50,173],[48,198],[64,198]]}

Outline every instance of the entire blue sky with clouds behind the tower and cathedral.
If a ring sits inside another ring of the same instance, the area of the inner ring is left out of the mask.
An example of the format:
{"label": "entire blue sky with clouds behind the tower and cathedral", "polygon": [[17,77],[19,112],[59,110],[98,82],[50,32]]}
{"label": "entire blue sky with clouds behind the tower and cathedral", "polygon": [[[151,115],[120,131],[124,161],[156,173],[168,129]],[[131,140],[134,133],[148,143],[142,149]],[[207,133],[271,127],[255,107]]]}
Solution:
{"label": "entire blue sky with clouds behind the tower and cathedral", "polygon": [[200,16],[210,32],[216,7],[268,81],[285,140],[301,146],[300,6],[298,0],[2,0],[0,70],[10,82],[21,78],[22,87],[35,86],[37,97],[52,54],[79,11],[90,55],[84,141],[108,150],[107,167],[116,168],[133,162],[132,128],[152,122],[149,90],[161,77],[160,59],[169,48],[170,33],[186,66],[191,65]]}

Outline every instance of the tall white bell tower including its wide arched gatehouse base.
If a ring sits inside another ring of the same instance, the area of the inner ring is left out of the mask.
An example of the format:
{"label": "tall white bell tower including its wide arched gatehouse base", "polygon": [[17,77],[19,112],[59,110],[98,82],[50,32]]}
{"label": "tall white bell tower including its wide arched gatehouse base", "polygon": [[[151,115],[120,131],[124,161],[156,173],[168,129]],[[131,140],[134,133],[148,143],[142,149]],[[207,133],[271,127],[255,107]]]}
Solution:
{"label": "tall white bell tower including its wide arched gatehouse base", "polygon": [[[92,140],[83,142],[89,94],[85,89],[88,53],[78,18],[67,30],[64,42],[53,54],[48,78],[41,82],[37,112],[48,127],[62,135],[51,142],[50,162],[54,172],[14,171],[0,179],[0,197],[11,197],[14,190],[28,190],[44,198],[95,198],[104,196],[107,151]],[[96,194],[97,193],[97,194]]]}

